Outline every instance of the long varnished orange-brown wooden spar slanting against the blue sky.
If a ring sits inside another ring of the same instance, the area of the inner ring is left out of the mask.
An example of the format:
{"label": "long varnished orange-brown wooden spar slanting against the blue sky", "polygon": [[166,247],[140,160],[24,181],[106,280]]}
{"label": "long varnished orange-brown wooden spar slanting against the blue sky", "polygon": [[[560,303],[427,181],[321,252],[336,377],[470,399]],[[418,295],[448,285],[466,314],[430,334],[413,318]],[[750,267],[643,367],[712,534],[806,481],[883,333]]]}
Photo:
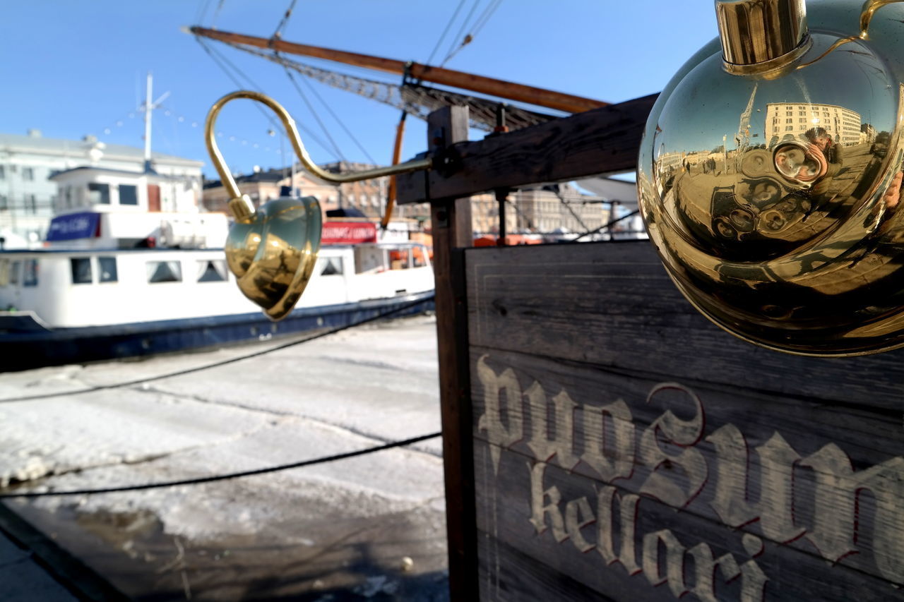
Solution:
{"label": "long varnished orange-brown wooden spar slanting against the blue sky", "polygon": [[384,59],[369,54],[337,51],[321,46],[309,46],[307,44],[286,42],[276,38],[259,38],[253,35],[244,35],[242,33],[221,32],[215,29],[207,29],[198,26],[193,26],[190,31],[195,35],[201,35],[212,40],[219,40],[220,42],[246,44],[258,48],[270,48],[289,54],[300,54],[316,59],[344,62],[349,65],[355,65],[356,67],[366,67],[376,71],[386,71],[388,73],[398,73],[401,75],[407,70],[410,77],[415,80],[424,80],[442,84],[444,86],[469,89],[501,99],[527,102],[539,107],[555,108],[569,113],[581,113],[590,110],[591,108],[606,107],[608,105],[607,102],[603,102],[602,100],[585,99],[571,94],[556,92],[551,89],[534,88],[532,86],[525,86],[511,81],[494,80],[493,78],[465,73],[464,71],[431,67],[430,65],[422,65],[417,62],[396,61],[394,59]]}

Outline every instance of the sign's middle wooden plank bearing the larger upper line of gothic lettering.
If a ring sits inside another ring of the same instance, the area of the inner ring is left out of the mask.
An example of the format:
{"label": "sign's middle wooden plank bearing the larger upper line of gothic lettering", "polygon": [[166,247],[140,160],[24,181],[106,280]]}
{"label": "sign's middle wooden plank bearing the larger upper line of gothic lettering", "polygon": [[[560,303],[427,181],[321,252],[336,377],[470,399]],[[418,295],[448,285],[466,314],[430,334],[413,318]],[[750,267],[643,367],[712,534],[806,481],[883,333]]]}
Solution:
{"label": "sign's middle wooden plank bearing the larger upper line of gothic lettering", "polygon": [[476,440],[904,583],[904,570],[889,569],[904,556],[898,421],[481,351],[472,350]]}

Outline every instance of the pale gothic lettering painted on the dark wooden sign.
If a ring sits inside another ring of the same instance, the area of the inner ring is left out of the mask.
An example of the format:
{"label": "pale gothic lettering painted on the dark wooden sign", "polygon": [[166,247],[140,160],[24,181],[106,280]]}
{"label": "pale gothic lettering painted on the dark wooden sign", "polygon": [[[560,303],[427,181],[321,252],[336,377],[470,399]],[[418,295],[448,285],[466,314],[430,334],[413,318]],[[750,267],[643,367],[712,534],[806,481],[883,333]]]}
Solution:
{"label": "pale gothic lettering painted on the dark wooden sign", "polygon": [[[536,536],[551,536],[560,544],[568,540],[581,553],[596,550],[606,566],[620,564],[629,575],[643,574],[651,586],[664,584],[675,597],[692,593],[704,601],[716,599],[719,582],[735,579],[740,579],[741,602],[764,598],[769,579],[756,560],[764,552],[763,540],[786,544],[805,538],[832,565],[862,551],[859,540],[869,541],[879,574],[904,584],[904,538],[899,536],[904,458],[855,471],[834,443],[802,457],[777,431],[751,450],[733,424],[716,425],[706,434],[702,400],[673,382],[655,385],[646,403],[656,399],[667,406],[680,398],[683,418],[665,409],[638,428],[626,400],[582,403],[567,390],[548,395],[538,381],[523,389],[512,368],[497,373],[486,360],[483,356],[476,363],[485,409],[477,429],[490,443],[496,474],[504,449],[523,442],[529,450],[532,461],[525,478]],[[671,396],[664,396],[667,391]],[[578,414],[580,420],[575,419]],[[706,456],[699,447],[702,441],[711,448]],[[749,468],[752,457],[758,461],[756,472]],[[546,468],[555,464],[572,471],[580,463],[601,482],[594,488],[595,499],[565,500],[549,484]],[[645,467],[645,478],[627,488],[624,483],[636,466]],[[796,491],[796,468],[812,471],[808,494]],[[682,509],[700,498],[707,484],[708,494],[697,504],[708,506],[727,528],[743,528],[735,533],[744,553],[717,558],[707,542],[681,541],[669,529],[637,532],[643,497]],[[874,501],[871,527],[862,526],[858,516],[864,493]],[[802,504],[812,507],[801,512]],[[800,516],[807,518],[796,518]],[[861,532],[869,528],[870,533]],[[756,529],[759,537],[750,532]]]}

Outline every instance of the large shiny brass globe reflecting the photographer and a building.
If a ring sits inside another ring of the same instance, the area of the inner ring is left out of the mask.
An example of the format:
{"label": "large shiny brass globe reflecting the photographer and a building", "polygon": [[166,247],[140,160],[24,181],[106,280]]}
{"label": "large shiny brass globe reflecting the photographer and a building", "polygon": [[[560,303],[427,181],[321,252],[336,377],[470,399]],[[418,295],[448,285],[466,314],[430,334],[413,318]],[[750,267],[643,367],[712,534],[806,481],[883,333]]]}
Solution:
{"label": "large shiny brass globe reflecting the photographer and a building", "polygon": [[833,0],[804,23],[810,46],[777,71],[724,70],[722,31],[665,87],[638,160],[647,230],[683,294],[743,339],[904,346],[904,5]]}

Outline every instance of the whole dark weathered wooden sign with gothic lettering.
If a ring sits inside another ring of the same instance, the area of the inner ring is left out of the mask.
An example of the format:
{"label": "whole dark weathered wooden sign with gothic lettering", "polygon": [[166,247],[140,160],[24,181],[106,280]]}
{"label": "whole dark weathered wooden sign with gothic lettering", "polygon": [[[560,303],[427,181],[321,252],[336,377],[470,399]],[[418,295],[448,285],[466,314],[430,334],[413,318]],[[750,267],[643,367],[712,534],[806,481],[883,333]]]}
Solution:
{"label": "whole dark weathered wooden sign with gothic lettering", "polygon": [[464,274],[481,599],[904,598],[904,353],[739,341],[646,241]]}

